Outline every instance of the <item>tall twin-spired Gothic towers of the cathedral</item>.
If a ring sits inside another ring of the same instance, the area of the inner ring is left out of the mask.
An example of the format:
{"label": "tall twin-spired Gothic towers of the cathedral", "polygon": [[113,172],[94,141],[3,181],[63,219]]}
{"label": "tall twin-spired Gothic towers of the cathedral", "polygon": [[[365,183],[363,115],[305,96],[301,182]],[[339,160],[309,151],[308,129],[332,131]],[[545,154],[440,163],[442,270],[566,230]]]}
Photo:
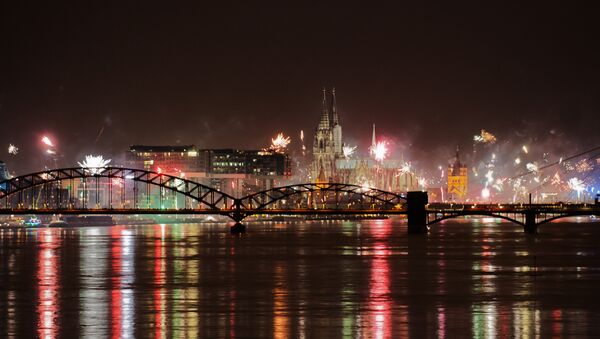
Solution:
{"label": "tall twin-spired Gothic towers of the cathedral", "polygon": [[321,106],[321,120],[313,142],[311,178],[314,182],[333,182],[336,180],[335,160],[343,157],[342,126],[339,122],[335,89],[332,90],[330,107],[327,92],[323,88]]}

